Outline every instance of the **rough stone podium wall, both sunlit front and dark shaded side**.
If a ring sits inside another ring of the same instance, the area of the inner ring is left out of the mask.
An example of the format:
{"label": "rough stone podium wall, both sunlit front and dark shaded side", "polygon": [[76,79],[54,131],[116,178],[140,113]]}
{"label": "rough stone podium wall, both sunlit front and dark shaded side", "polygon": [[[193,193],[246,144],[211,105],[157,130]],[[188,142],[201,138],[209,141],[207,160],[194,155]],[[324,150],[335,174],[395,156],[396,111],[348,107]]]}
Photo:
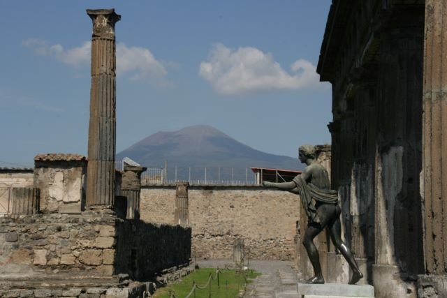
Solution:
{"label": "rough stone podium wall, both sunlit front and dark shaded side", "polygon": [[73,276],[129,274],[149,279],[184,265],[191,230],[125,221],[110,214],[38,214],[0,218],[0,280],[45,273]]}

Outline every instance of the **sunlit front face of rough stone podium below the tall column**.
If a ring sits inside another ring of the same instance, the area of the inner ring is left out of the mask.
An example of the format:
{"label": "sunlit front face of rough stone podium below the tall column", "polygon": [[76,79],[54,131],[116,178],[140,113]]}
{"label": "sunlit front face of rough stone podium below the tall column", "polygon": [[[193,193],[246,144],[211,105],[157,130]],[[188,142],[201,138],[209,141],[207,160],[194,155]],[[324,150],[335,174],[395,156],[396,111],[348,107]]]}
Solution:
{"label": "sunlit front face of rough stone podium below the tall column", "polygon": [[111,216],[0,218],[0,275],[111,275],[115,237]]}

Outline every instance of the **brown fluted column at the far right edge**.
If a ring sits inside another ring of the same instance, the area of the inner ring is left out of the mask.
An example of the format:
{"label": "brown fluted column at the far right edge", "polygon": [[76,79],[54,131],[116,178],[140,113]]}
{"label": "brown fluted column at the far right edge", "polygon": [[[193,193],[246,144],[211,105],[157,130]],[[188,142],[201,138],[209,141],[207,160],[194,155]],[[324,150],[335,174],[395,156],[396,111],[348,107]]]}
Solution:
{"label": "brown fluted column at the far right edge", "polygon": [[[423,197],[425,291],[447,297],[447,0],[425,1]],[[434,280],[437,280],[434,282]],[[428,281],[428,282],[427,282]],[[441,291],[441,292],[440,292]],[[420,292],[420,297],[425,292]]]}

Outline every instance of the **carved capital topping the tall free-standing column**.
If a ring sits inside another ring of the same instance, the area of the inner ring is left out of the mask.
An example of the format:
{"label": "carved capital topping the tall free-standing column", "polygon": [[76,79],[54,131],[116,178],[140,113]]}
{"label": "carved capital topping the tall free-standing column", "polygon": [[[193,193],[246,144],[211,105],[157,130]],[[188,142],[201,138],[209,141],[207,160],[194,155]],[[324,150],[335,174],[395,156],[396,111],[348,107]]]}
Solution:
{"label": "carved capital topping the tall free-standing column", "polygon": [[87,15],[93,22],[93,38],[115,38],[115,24],[121,15],[115,9],[87,9]]}

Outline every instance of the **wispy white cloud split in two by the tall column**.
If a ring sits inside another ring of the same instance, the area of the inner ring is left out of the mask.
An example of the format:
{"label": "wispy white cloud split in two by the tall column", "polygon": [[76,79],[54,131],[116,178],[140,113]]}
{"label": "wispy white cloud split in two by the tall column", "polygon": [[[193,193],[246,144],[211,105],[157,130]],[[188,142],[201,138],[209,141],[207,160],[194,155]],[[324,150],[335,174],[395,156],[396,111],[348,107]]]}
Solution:
{"label": "wispy white cloud split in two by the tall column", "polygon": [[[29,47],[38,55],[54,57],[68,66],[75,68],[88,66],[91,57],[91,41],[82,43],[79,47],[65,50],[62,45],[48,45],[43,40],[27,39],[22,45]],[[117,75],[129,75],[129,80],[156,80],[166,85],[164,78],[168,71],[158,61],[151,51],[144,47],[128,47],[118,43],[117,47]]]}

